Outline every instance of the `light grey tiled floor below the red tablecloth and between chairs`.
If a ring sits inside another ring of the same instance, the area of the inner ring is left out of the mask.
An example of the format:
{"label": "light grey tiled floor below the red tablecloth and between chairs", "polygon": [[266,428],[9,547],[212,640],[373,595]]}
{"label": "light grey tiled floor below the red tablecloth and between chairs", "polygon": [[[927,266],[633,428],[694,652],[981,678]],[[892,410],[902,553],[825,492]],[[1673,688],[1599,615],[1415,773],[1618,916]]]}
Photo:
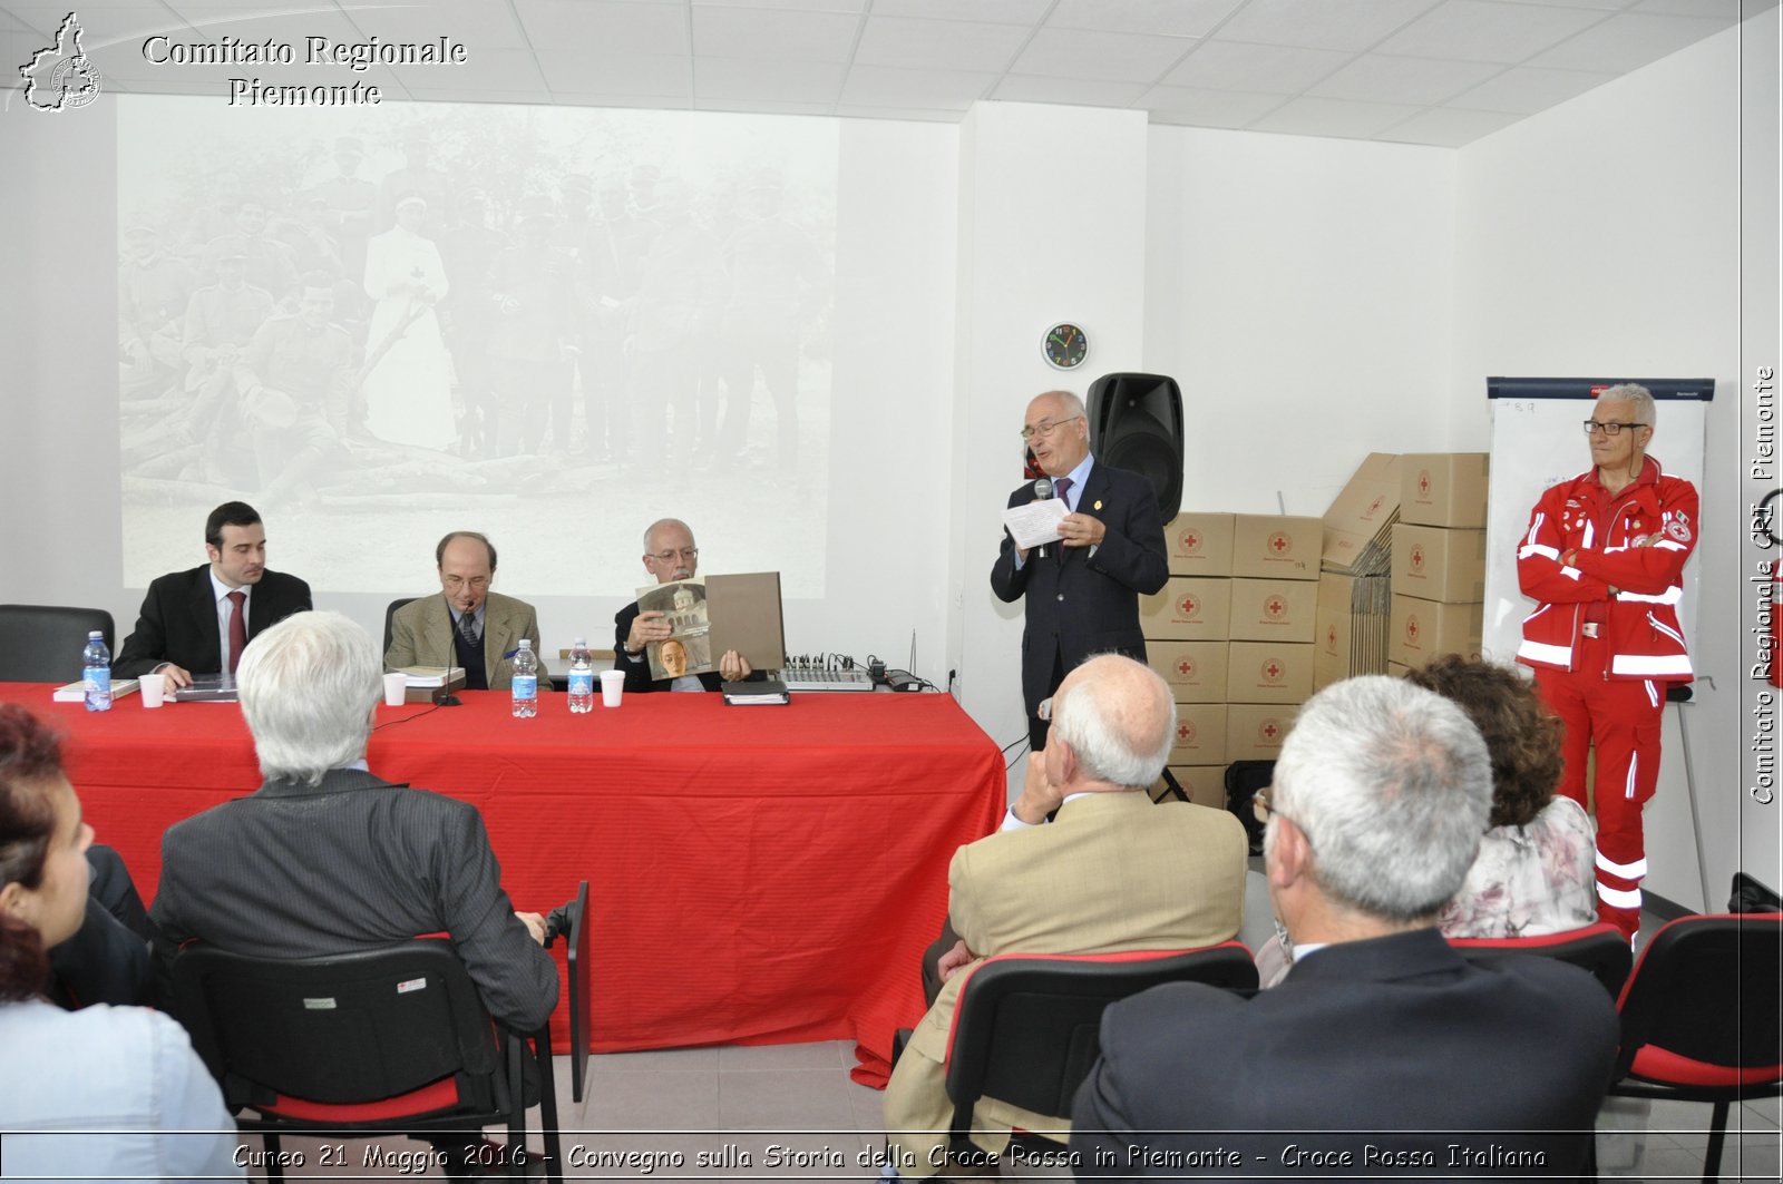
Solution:
{"label": "light grey tiled floor below the red tablecloth and between chairs", "polygon": [[[563,1175],[645,1182],[875,1179],[883,1095],[854,1084],[852,1066],[854,1048],[845,1041],[597,1056],[588,1061],[585,1098],[574,1104],[569,1057],[558,1057]],[[1599,1179],[1699,1179],[1706,1123],[1706,1106],[1612,1098],[1598,1120]],[[1776,1184],[1783,1168],[1779,1127],[1779,1100],[1742,1106],[1730,1120],[1722,1179]],[[417,1179],[394,1168],[364,1170],[367,1143],[344,1145],[349,1170],[321,1168],[321,1143],[285,1139],[287,1152],[305,1154],[305,1166],[289,1179]],[[537,1134],[531,1145],[542,1147]],[[259,1139],[246,1147],[257,1152]],[[426,1150],[408,1139],[378,1147]],[[430,1168],[419,1179],[439,1175]],[[250,1179],[264,1177],[250,1170]]]}

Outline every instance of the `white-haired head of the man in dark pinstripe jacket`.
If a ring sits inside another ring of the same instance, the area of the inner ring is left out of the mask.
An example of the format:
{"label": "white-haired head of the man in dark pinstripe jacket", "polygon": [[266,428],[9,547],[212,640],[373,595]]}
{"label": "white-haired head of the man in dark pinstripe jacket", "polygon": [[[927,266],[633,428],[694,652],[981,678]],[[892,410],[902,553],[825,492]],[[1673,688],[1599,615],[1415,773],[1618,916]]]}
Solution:
{"label": "white-haired head of the man in dark pinstripe jacket", "polygon": [[307,612],[255,637],[235,683],[260,774],[317,785],[330,769],[366,754],[383,663],[358,624]]}

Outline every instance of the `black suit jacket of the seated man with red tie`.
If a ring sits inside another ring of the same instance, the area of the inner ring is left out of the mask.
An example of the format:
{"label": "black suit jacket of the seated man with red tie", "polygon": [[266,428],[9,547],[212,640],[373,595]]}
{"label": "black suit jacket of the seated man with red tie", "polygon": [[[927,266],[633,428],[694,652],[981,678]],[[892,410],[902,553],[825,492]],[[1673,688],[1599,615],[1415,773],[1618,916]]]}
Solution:
{"label": "black suit jacket of the seated man with red tie", "polygon": [[[248,640],[273,628],[291,613],[314,608],[310,585],[296,576],[264,571],[248,594]],[[148,674],[162,662],[185,667],[191,674],[223,670],[223,644],[218,640],[218,601],[210,587],[210,565],[177,571],[148,585],[143,612],[112,658],[114,678]]]}

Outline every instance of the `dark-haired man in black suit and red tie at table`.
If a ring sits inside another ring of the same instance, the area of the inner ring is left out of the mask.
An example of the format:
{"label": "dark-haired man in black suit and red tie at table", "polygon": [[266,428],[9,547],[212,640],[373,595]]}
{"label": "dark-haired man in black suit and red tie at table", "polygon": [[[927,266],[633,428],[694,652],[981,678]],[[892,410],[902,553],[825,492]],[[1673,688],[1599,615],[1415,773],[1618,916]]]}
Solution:
{"label": "dark-haired man in black suit and red tie at table", "polygon": [[225,501],[205,521],[210,563],[148,585],[136,629],[112,662],[118,678],[159,670],[168,687],[194,674],[235,672],[248,642],[310,608],[310,585],[266,567],[266,528],[244,501]]}

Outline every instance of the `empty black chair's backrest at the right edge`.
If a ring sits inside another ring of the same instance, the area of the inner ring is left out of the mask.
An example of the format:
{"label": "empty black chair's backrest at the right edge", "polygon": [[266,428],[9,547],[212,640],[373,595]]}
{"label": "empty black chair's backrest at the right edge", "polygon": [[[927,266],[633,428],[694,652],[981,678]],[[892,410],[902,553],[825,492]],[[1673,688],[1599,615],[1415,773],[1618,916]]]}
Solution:
{"label": "empty black chair's backrest at the right edge", "polygon": [[1617,1077],[1646,1047],[1705,1066],[1783,1066],[1783,913],[1683,917],[1653,934],[1617,1004]]}

